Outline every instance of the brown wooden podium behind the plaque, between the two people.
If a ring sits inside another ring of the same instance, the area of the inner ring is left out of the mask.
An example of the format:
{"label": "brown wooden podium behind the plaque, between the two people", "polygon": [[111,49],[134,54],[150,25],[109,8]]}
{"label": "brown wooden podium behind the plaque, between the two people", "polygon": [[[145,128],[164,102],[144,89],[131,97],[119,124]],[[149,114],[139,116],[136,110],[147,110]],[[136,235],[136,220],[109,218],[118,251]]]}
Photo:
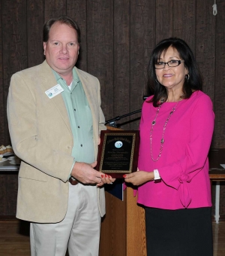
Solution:
{"label": "brown wooden podium behind the plaque, between the two people", "polygon": [[101,223],[99,255],[146,256],[145,212],[136,205],[133,189],[124,190],[123,201],[108,192],[105,194],[107,214]]}

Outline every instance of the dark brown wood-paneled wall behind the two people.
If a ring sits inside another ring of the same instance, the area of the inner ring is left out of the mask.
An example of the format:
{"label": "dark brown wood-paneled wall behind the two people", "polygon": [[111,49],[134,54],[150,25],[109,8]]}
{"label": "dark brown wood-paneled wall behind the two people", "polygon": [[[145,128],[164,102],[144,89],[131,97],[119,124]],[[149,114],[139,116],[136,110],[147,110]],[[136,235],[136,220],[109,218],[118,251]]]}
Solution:
{"label": "dark brown wood-paneled wall behind the two people", "polygon": [[[1,0],[0,145],[10,144],[6,103],[14,72],[43,61],[43,23],[68,14],[80,25],[77,66],[101,81],[102,108],[109,120],[142,107],[148,95],[151,50],[163,38],[183,38],[196,55],[204,91],[216,114],[213,148],[225,147],[225,1],[217,0]],[[140,113],[118,121],[138,129]]]}

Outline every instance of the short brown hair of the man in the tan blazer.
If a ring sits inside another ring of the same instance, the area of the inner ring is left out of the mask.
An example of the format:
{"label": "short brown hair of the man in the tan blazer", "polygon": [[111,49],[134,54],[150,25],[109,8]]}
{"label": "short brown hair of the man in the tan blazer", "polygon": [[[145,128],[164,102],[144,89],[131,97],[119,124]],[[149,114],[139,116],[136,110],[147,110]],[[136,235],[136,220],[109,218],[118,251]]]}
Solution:
{"label": "short brown hair of the man in the tan blazer", "polygon": [[79,26],[77,25],[76,21],[71,19],[71,17],[65,16],[65,15],[60,16],[58,18],[53,18],[53,19],[47,20],[46,23],[44,23],[44,25],[43,25],[43,41],[44,42],[49,40],[49,31],[55,22],[67,24],[71,28],[75,29],[77,31],[77,41],[80,44],[80,28],[79,28]]}

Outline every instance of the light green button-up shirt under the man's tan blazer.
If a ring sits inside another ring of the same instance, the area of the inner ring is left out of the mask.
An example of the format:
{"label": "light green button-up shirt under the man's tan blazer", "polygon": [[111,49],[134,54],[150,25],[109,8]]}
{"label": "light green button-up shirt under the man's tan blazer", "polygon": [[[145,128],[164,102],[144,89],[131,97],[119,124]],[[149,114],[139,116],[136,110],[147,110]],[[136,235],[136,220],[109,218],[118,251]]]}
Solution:
{"label": "light green button-up shirt under the man's tan blazer", "polygon": [[[62,92],[62,98],[64,99],[65,107],[68,111],[71,130],[74,136],[74,147],[71,154],[72,157],[74,157],[74,163],[75,161],[93,163],[95,161],[95,146],[93,139],[92,111],[89,107],[89,102],[86,98],[86,93],[83,90],[80,78],[76,70],[73,69],[73,81],[70,90],[65,79],[54,70],[53,73],[57,83],[60,84],[64,90]],[[57,129],[57,127],[55,127],[55,129]]]}

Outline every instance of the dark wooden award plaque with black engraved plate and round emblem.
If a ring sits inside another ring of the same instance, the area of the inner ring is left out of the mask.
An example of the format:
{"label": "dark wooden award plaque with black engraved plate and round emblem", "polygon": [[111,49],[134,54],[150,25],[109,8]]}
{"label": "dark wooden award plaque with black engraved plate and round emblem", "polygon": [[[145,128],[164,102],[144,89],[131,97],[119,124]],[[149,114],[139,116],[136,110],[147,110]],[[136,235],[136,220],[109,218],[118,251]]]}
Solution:
{"label": "dark wooden award plaque with black engraved plate and round emblem", "polygon": [[136,172],[139,154],[139,131],[103,130],[98,148],[96,169],[113,178]]}

